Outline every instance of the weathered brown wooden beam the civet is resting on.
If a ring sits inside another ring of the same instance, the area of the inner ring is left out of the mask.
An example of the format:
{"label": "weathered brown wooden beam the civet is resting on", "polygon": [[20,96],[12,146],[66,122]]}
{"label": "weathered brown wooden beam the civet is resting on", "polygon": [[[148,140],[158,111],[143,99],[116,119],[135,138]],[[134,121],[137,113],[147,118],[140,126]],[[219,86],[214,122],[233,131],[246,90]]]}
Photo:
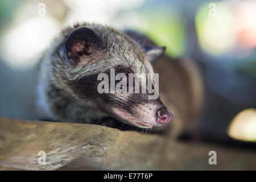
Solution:
{"label": "weathered brown wooden beam the civet is resting on", "polygon": [[[217,153],[217,165],[208,163],[211,150]],[[46,152],[45,165],[38,163],[39,151]],[[256,154],[98,125],[0,118],[0,166],[25,170],[255,170]]]}

